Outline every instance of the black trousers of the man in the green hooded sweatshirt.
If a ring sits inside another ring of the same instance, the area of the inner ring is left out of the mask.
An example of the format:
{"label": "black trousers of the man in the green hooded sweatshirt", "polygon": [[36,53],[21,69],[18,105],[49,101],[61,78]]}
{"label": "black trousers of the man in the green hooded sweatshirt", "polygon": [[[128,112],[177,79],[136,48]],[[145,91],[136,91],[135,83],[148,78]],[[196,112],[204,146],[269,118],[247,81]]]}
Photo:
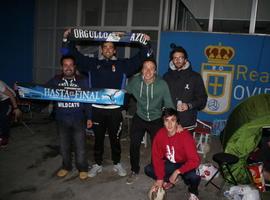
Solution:
{"label": "black trousers of the man in the green hooded sweatshirt", "polygon": [[134,115],[130,133],[131,171],[135,173],[139,173],[140,171],[140,147],[145,132],[147,131],[150,134],[152,142],[155,134],[162,126],[161,118],[153,121],[144,121],[137,114]]}

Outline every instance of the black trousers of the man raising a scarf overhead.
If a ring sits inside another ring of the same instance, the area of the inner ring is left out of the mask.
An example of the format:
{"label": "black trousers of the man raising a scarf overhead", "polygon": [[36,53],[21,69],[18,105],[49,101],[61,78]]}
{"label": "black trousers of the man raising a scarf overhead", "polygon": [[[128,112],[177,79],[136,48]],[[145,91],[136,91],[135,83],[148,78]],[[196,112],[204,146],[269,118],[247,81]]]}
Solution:
{"label": "black trousers of the man raising a scarf overhead", "polygon": [[94,158],[98,165],[102,164],[105,133],[109,134],[111,157],[113,164],[121,160],[120,137],[122,133],[121,108],[101,109],[93,107],[93,129],[95,133]]}

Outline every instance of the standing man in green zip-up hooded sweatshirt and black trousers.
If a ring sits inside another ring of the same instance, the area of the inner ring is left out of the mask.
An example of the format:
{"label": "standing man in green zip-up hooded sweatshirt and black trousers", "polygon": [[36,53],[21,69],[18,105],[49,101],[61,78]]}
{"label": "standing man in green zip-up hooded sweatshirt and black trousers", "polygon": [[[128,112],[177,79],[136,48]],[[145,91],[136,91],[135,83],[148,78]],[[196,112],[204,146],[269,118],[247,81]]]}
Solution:
{"label": "standing man in green zip-up hooded sweatshirt and black trousers", "polygon": [[137,101],[137,110],[133,116],[130,135],[131,173],[126,183],[132,184],[140,171],[140,145],[147,131],[151,141],[155,133],[163,126],[162,108],[174,108],[167,83],[156,75],[156,61],[146,59],[141,74],[136,75],[127,85],[127,92]]}

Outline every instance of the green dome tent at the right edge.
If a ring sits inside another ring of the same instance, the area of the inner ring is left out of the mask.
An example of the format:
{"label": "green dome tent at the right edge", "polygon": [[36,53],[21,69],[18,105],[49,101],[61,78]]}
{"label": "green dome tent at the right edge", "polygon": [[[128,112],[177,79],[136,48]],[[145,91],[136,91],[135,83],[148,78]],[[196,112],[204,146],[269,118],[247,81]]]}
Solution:
{"label": "green dome tent at the right edge", "polygon": [[270,94],[249,97],[230,114],[221,140],[225,152],[239,157],[239,162],[232,166],[238,183],[250,182],[246,160],[261,140],[262,127],[269,125]]}

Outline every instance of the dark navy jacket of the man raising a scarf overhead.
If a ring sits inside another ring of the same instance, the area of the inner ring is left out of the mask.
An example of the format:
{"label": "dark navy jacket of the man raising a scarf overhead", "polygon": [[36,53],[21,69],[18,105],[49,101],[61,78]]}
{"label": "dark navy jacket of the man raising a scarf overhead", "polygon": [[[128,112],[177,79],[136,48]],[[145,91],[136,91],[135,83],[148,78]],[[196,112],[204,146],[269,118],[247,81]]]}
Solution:
{"label": "dark navy jacket of the man raising a scarf overhead", "polygon": [[142,62],[149,56],[150,46],[142,46],[140,52],[130,59],[100,59],[84,56],[75,47],[74,42],[63,43],[65,54],[75,56],[80,72],[89,73],[92,88],[122,89],[129,77],[140,69]]}

